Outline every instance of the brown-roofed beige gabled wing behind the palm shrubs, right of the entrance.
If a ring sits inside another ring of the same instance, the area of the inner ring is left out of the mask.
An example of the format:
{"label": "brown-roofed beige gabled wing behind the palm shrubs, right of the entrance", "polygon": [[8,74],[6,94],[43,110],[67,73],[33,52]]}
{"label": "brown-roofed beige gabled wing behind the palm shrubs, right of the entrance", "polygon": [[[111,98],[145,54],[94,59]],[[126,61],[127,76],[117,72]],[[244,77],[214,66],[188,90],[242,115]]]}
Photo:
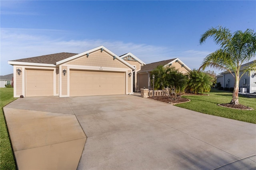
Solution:
{"label": "brown-roofed beige gabled wing behind the palm shrubs, right of the entrance", "polygon": [[174,67],[183,74],[187,74],[191,71],[191,69],[178,58],[142,65],[140,71],[138,71],[138,89],[143,89],[144,87],[146,89],[150,88],[150,72],[158,65]]}

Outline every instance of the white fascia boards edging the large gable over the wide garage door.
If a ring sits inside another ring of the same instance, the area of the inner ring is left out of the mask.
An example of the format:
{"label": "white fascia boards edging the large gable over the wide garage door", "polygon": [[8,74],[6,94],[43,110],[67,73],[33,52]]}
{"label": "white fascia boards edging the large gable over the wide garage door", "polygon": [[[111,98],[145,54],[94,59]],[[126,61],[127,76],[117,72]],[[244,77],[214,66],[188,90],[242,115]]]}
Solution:
{"label": "white fascia boards edging the large gable over the wide garage door", "polygon": [[65,63],[65,62],[67,62],[67,61],[70,61],[70,60],[72,60],[72,59],[76,59],[76,58],[78,58],[78,57],[81,57],[82,55],[86,55],[87,53],[92,53],[92,52],[97,51],[97,50],[99,50],[99,49],[101,49],[101,48],[103,48],[104,51],[108,52],[109,54],[111,54],[111,55],[113,55],[113,56],[116,56],[116,59],[118,59],[119,61],[121,61],[124,65],[127,65],[128,67],[130,67],[130,68],[133,69],[133,70],[136,69],[135,67],[133,67],[132,65],[130,65],[129,63],[127,63],[126,61],[124,61],[124,59],[118,57],[118,55],[116,55],[115,53],[113,53],[112,51],[110,51],[109,49],[107,49],[106,47],[104,47],[103,45],[101,45],[100,47],[96,47],[96,48],[94,48],[94,49],[90,49],[90,50],[88,50],[88,51],[82,52],[82,53],[80,53],[80,54],[74,55],[74,56],[72,56],[72,57],[63,59],[63,60],[61,60],[61,61],[58,61],[58,62],[56,62],[56,65],[60,65],[60,64]]}

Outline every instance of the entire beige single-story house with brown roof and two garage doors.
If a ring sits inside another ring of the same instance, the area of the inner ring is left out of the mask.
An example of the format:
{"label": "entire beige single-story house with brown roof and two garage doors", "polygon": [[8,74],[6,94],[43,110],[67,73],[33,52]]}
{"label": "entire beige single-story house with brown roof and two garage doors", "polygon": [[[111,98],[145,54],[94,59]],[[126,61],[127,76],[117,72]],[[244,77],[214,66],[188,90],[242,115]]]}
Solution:
{"label": "entire beige single-story house with brown roof and two garage doors", "polygon": [[[172,65],[184,73],[190,70],[178,58],[166,61],[157,63]],[[148,76],[157,67],[132,53],[118,57],[104,46],[79,54],[55,53],[8,63],[13,65],[14,97],[132,94],[143,86],[150,87]],[[144,75],[146,83],[141,80]]]}

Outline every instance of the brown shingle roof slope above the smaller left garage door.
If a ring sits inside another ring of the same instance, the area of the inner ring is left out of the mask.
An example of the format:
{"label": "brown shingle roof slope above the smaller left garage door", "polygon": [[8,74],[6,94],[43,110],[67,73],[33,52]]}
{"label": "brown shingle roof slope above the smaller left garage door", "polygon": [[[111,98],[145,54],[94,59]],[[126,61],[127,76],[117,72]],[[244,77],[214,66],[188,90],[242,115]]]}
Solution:
{"label": "brown shingle roof slope above the smaller left garage door", "polygon": [[61,61],[62,59],[66,59],[66,58],[72,57],[74,55],[77,55],[77,54],[76,53],[55,53],[55,54],[49,54],[49,55],[41,55],[38,57],[16,59],[16,60],[12,60],[12,61],[56,65],[57,61]]}

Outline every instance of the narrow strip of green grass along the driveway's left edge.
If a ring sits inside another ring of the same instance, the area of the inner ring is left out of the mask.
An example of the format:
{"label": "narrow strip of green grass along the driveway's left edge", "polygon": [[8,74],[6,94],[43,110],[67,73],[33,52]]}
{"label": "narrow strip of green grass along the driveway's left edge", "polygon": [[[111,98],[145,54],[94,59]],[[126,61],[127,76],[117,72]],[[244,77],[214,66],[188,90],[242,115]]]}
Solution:
{"label": "narrow strip of green grass along the driveway's left edge", "polygon": [[15,170],[16,164],[12,153],[12,147],[6,128],[3,107],[11,103],[16,98],[13,97],[13,88],[0,88],[0,169]]}

